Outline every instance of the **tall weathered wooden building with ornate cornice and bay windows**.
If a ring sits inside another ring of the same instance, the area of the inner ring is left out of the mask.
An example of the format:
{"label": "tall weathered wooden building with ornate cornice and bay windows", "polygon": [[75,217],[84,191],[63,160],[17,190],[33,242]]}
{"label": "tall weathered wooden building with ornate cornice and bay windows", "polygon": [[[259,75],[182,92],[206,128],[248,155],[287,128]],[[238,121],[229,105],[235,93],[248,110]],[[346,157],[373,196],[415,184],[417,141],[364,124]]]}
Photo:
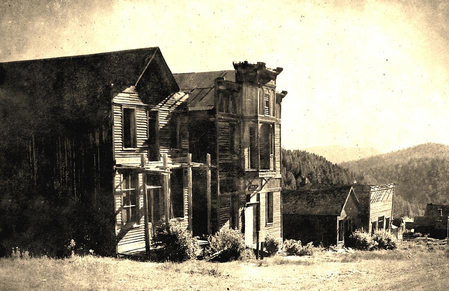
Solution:
{"label": "tall weathered wooden building with ornate cornice and bay windows", "polygon": [[[175,74],[175,79],[190,96],[193,161],[204,163],[210,153],[217,166],[212,231],[239,229],[252,245],[266,234],[282,237],[280,114],[287,92],[276,92],[282,68],[270,69],[262,62],[233,66]],[[194,235],[199,233],[194,229]]]}

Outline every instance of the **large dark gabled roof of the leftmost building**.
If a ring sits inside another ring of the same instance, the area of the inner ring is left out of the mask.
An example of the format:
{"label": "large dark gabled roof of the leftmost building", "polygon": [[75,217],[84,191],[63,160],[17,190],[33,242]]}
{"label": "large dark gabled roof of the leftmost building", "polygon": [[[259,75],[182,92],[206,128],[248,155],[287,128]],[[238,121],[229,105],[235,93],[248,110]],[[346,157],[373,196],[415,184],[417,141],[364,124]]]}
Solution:
{"label": "large dark gabled roof of the leftmost building", "polygon": [[[72,73],[83,72],[84,80],[70,80]],[[179,91],[159,47],[148,47],[87,55],[11,61],[0,63],[0,87],[30,88],[54,82],[96,80],[119,90],[129,86],[144,87],[168,96]]]}

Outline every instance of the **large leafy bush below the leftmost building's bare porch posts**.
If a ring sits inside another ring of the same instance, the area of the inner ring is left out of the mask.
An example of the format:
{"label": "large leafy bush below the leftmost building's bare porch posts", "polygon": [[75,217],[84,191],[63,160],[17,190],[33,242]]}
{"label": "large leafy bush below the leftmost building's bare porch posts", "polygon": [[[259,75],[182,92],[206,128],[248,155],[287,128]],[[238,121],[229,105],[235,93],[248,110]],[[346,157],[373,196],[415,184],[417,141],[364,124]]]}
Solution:
{"label": "large leafy bush below the leftmost building's bare porch posts", "polygon": [[153,239],[155,246],[161,246],[160,260],[172,262],[184,262],[195,259],[200,250],[198,242],[192,237],[192,233],[185,227],[176,223],[165,224],[157,228]]}

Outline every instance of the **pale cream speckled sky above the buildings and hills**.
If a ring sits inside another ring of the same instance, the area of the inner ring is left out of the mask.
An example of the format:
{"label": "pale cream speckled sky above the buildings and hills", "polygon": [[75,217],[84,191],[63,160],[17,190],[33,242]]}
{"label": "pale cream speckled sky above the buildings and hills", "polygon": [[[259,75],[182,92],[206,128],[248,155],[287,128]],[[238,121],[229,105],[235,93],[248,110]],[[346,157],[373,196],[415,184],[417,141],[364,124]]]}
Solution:
{"label": "pale cream speckled sky above the buildings and hills", "polygon": [[409,2],[6,0],[0,61],[150,46],[176,73],[263,61],[284,68],[285,148],[449,144],[449,4]]}

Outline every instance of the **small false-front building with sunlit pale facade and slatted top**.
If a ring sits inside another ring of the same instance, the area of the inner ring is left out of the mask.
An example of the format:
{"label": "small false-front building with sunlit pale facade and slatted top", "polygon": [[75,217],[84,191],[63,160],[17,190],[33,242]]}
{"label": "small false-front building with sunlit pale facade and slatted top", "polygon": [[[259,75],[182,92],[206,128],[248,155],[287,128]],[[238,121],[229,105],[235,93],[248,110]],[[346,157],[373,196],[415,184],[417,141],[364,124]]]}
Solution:
{"label": "small false-front building with sunlit pale facade and slatted top", "polygon": [[391,230],[393,218],[393,183],[383,185],[352,185],[360,201],[361,227],[372,234],[376,230]]}

